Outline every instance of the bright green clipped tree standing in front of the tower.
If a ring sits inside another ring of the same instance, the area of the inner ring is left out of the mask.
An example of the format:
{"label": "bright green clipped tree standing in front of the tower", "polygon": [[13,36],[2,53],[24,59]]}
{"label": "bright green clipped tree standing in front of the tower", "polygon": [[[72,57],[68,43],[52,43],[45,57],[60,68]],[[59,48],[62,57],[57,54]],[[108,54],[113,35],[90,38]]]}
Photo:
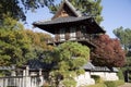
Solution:
{"label": "bright green clipped tree standing in front of the tower", "polygon": [[64,84],[66,87],[73,85],[75,87],[74,77],[84,73],[82,66],[90,60],[90,49],[78,42],[64,42],[56,47],[52,51],[46,53],[47,63],[55,64],[50,71],[51,79],[57,85]]}

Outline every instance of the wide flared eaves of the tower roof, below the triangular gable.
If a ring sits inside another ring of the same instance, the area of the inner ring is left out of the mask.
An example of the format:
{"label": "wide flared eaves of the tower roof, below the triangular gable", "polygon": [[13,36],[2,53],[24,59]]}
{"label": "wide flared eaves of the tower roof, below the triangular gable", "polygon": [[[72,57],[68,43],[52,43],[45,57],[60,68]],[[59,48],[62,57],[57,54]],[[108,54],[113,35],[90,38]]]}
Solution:
{"label": "wide flared eaves of the tower roof, below the triangular gable", "polygon": [[50,20],[50,21],[34,22],[33,25],[36,27],[39,27],[46,32],[49,32],[51,34],[55,34],[55,29],[57,29],[57,28],[80,26],[80,25],[85,25],[85,26],[90,27],[90,29],[92,30],[93,34],[105,33],[105,30],[95,22],[95,20],[90,16],[57,17],[57,18]]}

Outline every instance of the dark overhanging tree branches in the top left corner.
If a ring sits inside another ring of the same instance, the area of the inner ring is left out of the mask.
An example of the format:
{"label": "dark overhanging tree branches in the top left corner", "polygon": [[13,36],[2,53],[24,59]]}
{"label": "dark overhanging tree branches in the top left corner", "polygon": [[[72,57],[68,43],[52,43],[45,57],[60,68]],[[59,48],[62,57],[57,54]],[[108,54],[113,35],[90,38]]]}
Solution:
{"label": "dark overhanging tree branches in the top left corner", "polygon": [[0,1],[0,21],[3,21],[5,14],[10,14],[15,20],[25,21],[27,10],[35,10],[40,7],[49,7],[55,0],[1,0]]}

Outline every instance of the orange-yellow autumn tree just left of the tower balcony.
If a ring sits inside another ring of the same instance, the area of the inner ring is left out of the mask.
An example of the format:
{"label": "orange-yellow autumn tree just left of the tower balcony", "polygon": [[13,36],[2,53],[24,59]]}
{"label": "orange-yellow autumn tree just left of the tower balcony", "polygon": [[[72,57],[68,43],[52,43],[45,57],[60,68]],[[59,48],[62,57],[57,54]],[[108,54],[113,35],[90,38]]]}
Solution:
{"label": "orange-yellow autumn tree just left of the tower balcony", "polygon": [[51,36],[44,33],[33,32],[31,29],[24,29],[27,37],[31,39],[32,52],[35,55],[34,59],[38,59],[43,55],[45,50],[52,50],[52,46],[47,45]]}

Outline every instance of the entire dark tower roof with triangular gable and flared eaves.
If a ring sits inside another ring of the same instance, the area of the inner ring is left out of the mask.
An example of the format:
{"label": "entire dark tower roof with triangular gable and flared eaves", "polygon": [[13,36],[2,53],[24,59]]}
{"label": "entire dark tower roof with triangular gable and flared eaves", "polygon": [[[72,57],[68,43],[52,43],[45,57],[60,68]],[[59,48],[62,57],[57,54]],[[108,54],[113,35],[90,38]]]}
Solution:
{"label": "entire dark tower roof with triangular gable and flared eaves", "polygon": [[92,16],[83,16],[68,0],[63,0],[60,8],[53,17],[49,21],[38,21],[33,23],[34,26],[39,27],[46,32],[55,34],[55,29],[61,27],[71,27],[85,25],[92,27],[88,30],[92,34],[106,33]]}

